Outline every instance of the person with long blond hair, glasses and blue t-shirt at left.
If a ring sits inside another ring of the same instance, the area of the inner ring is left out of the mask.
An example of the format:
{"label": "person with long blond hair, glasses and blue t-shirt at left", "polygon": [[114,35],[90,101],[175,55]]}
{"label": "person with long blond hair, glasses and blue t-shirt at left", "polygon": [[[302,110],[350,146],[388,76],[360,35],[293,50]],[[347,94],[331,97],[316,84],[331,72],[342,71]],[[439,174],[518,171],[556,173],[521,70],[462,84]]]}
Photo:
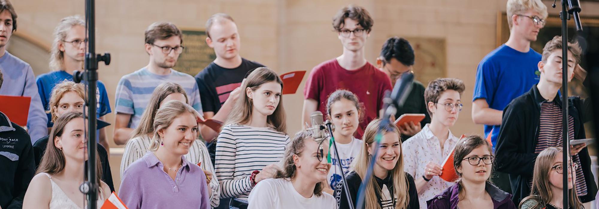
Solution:
{"label": "person with long blond hair, glasses and blue t-shirt at left", "polygon": [[[50,67],[52,67],[53,71],[38,76],[36,80],[41,102],[45,110],[50,110],[48,104],[50,103],[52,88],[65,80],[72,81],[73,71],[83,70],[87,43],[85,32],[85,21],[80,16],[65,17],[56,26],[54,32],[55,42],[52,44],[52,52],[50,54]],[[104,115],[110,113],[111,110],[106,88],[101,81],[98,81],[98,87],[96,88],[96,99],[98,100],[96,105],[96,108],[98,108],[98,118],[105,120]],[[51,128],[53,125],[51,122],[52,115],[47,113],[47,117],[48,128]],[[96,136],[98,136],[98,143],[100,145],[109,147],[104,128],[98,130]]]}

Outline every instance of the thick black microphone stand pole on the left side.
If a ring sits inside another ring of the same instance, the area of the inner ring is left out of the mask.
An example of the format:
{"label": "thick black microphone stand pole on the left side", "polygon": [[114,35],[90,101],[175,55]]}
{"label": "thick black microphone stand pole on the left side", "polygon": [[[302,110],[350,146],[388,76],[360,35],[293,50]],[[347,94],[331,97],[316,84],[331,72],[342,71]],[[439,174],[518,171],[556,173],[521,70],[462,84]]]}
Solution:
{"label": "thick black microphone stand pole on the left side", "polygon": [[96,182],[98,173],[96,172],[96,82],[98,81],[98,62],[110,64],[110,54],[96,54],[96,30],[95,30],[95,1],[86,0],[85,19],[87,29],[87,53],[85,54],[85,71],[73,72],[73,81],[87,81],[87,180],[79,187],[79,190],[86,195],[87,208],[98,208],[98,189]]}

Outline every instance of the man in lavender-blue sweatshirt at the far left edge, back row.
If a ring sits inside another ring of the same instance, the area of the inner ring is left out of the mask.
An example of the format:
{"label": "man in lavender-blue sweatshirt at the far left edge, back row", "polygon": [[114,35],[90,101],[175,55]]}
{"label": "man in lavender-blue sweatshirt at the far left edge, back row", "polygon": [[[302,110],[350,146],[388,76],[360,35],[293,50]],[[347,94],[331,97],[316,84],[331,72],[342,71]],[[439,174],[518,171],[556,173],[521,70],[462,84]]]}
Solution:
{"label": "man in lavender-blue sweatshirt at the far left edge, back row", "polygon": [[0,0],[0,22],[0,70],[4,73],[4,88],[0,88],[0,95],[31,97],[27,131],[33,144],[48,134],[48,119],[31,66],[6,51],[10,36],[17,30],[17,13],[8,0]]}

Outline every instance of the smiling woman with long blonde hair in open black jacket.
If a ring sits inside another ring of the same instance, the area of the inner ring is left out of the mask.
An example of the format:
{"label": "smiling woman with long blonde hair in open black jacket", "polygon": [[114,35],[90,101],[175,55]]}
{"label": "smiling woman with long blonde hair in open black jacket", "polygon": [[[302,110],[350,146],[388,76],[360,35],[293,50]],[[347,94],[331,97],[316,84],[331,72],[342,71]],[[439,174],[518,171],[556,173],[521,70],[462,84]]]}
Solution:
{"label": "smiling woman with long blonde hair in open black jacket", "polygon": [[[337,195],[339,208],[349,208],[349,204],[356,204],[358,188],[362,179],[366,177],[368,165],[373,158],[375,149],[380,149],[377,153],[373,175],[366,186],[365,208],[367,209],[418,209],[418,193],[414,179],[410,174],[404,172],[403,155],[401,153],[400,130],[394,124],[388,124],[385,127],[383,138],[379,147],[374,146],[374,138],[380,126],[381,119],[375,119],[368,124],[362,137],[362,149],[356,159],[353,161],[353,170],[345,177],[347,188],[352,201],[347,202],[347,193],[343,189],[343,182],[338,183],[335,192]],[[356,207],[356,208],[359,208]]]}

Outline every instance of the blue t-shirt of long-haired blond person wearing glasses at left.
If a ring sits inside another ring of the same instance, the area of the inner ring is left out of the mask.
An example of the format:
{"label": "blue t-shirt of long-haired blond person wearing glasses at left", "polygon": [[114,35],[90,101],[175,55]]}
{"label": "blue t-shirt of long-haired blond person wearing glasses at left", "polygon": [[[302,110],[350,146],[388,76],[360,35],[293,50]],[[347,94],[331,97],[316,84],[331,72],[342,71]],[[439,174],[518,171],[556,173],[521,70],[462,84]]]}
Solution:
{"label": "blue t-shirt of long-haired blond person wearing glasses at left", "polygon": [[[52,71],[49,73],[44,73],[37,77],[36,81],[38,85],[38,91],[40,92],[41,103],[44,105],[44,110],[49,110],[48,106],[50,103],[50,95],[52,94],[52,88],[56,86],[56,84],[60,84],[63,81],[72,81],[73,76],[64,70]],[[106,93],[106,87],[102,81],[98,81],[98,88],[96,88],[96,99],[98,100],[98,118],[104,116],[111,112],[110,102],[108,101],[108,94]],[[52,127],[53,123],[50,122],[52,115],[50,113],[46,114],[48,116],[48,127]]]}

